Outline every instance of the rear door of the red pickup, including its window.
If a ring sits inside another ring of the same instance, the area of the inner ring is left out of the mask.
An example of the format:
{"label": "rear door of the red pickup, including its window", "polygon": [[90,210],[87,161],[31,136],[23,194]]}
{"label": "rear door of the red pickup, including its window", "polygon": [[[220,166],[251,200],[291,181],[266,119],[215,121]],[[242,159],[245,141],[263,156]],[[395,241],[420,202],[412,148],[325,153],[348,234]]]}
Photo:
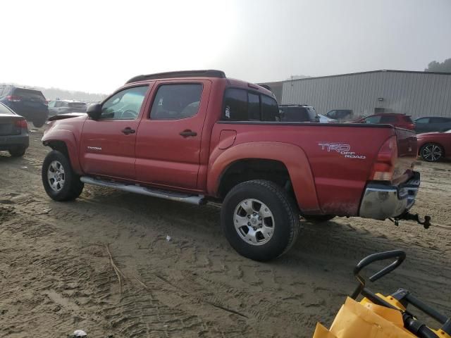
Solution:
{"label": "rear door of the red pickup, including its window", "polygon": [[197,189],[202,127],[211,82],[157,82],[152,104],[137,130],[137,180]]}

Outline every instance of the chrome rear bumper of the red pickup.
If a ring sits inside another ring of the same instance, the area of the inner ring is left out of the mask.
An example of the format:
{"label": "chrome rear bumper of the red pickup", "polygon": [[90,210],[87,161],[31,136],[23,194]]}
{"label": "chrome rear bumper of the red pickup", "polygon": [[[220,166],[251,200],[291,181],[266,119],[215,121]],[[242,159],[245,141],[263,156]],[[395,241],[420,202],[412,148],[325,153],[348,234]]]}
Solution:
{"label": "chrome rear bumper of the red pickup", "polygon": [[360,204],[359,216],[385,220],[401,215],[414,205],[419,186],[420,173],[418,172],[414,172],[410,180],[397,187],[369,183],[366,185]]}

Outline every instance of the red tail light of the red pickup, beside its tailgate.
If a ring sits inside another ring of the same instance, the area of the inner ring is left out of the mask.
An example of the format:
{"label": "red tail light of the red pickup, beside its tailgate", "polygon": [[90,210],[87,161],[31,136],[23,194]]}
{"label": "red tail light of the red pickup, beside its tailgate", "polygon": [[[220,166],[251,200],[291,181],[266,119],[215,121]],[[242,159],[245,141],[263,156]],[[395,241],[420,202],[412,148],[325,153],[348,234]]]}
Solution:
{"label": "red tail light of the red pickup, beside its tailgate", "polygon": [[370,180],[391,181],[397,161],[397,138],[390,137],[379,149],[376,162],[371,170]]}

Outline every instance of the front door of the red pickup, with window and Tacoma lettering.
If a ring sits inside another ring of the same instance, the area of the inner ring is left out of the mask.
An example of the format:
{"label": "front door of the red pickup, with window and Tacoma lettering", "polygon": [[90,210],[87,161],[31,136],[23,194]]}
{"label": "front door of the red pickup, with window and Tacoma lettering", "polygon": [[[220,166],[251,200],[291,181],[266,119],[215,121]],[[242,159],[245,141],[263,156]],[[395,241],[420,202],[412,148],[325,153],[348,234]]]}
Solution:
{"label": "front door of the red pickup, with window and Tacoma lettering", "polygon": [[135,180],[135,142],[149,85],[129,87],[102,104],[101,117],[88,119],[80,139],[80,164],[88,175]]}

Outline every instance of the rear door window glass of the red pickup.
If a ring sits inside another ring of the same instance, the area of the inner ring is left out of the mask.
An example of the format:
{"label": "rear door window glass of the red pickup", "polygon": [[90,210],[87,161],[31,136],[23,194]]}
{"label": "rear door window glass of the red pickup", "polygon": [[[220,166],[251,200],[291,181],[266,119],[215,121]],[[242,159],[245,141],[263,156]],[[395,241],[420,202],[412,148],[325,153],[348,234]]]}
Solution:
{"label": "rear door window glass of the red pickup", "polygon": [[199,111],[202,84],[163,84],[150,111],[152,120],[181,120]]}

